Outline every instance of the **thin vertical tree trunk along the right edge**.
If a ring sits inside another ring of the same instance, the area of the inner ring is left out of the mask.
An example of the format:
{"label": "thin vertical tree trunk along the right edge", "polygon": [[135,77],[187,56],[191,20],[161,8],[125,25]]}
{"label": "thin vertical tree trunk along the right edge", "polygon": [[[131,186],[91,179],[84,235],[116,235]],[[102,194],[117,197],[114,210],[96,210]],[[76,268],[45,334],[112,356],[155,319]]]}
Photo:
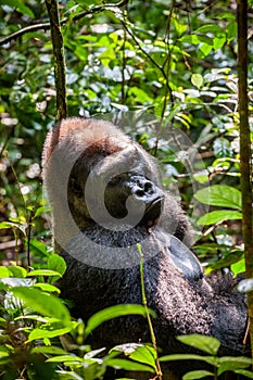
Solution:
{"label": "thin vertical tree trunk along the right edge", "polygon": [[[237,0],[238,16],[238,90],[240,117],[240,165],[242,192],[242,231],[246,278],[253,278],[252,168],[248,112],[248,1]],[[253,291],[248,294],[250,337],[253,357]]]}

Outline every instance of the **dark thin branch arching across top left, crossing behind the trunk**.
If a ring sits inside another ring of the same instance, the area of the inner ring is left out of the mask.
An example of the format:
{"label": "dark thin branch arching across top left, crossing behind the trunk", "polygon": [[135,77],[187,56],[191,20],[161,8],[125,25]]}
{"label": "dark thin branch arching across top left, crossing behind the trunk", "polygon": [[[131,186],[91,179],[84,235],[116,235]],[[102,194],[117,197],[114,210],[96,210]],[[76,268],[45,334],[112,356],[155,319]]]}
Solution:
{"label": "dark thin branch arching across top left, crossing behind the trunk", "polygon": [[[128,0],[122,0],[115,4],[102,4],[102,5],[96,5],[93,8],[91,8],[90,10],[88,11],[84,11],[84,12],[80,12],[78,14],[76,14],[72,21],[78,21],[87,15],[91,15],[91,14],[94,14],[94,13],[100,13],[100,12],[103,12],[103,11],[112,11],[114,12],[117,8],[122,8],[124,5],[126,5],[128,3]],[[65,25],[67,23],[68,18],[65,17],[61,21],[61,26],[62,25]],[[26,26],[15,33],[13,33],[12,35],[5,37],[5,38],[2,38],[0,40],[0,46],[3,46],[10,41],[12,41],[13,39],[17,39],[18,37],[27,34],[27,33],[33,33],[33,31],[37,31],[37,30],[40,30],[40,29],[43,29],[45,31],[46,30],[49,30],[50,29],[50,23],[40,23],[40,24],[35,24],[35,25],[29,25],[29,26]]]}

